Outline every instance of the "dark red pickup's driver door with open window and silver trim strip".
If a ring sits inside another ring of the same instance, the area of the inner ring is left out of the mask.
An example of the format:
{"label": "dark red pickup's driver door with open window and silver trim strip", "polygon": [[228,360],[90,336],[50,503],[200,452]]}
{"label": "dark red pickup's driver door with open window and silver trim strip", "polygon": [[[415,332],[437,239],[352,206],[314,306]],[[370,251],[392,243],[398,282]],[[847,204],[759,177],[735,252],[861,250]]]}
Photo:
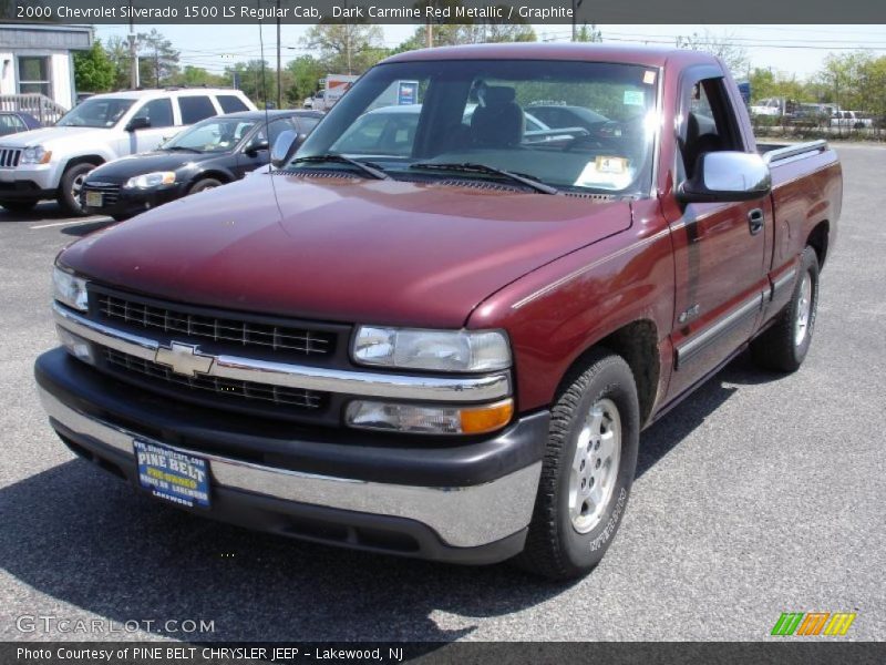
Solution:
{"label": "dark red pickup's driver door with open window and silver trim strip", "polygon": [[[703,153],[745,152],[722,75],[689,78],[681,95],[678,180],[692,175]],[[767,195],[690,203],[669,219],[677,277],[671,398],[715,370],[753,334],[769,285],[764,258],[772,221]]]}

